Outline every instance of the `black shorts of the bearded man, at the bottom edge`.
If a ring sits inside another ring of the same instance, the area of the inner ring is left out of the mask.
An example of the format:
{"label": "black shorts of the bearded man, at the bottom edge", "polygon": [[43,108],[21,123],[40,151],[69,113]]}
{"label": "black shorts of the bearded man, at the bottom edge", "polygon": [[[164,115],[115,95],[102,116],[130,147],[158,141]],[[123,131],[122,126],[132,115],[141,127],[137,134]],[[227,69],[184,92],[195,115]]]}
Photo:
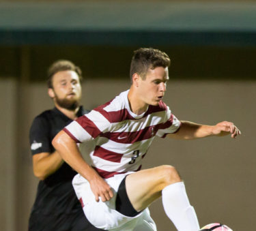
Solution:
{"label": "black shorts of the bearded man, at the bottom edge", "polygon": [[29,231],[98,231],[83,213],[72,215],[42,215],[33,211],[29,217]]}

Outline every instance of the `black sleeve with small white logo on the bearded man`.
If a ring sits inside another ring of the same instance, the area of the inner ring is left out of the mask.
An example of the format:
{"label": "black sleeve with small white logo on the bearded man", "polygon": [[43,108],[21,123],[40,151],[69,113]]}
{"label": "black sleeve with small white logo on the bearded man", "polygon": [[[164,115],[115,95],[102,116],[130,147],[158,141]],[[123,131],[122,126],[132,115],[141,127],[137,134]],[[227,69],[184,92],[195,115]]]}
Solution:
{"label": "black sleeve with small white logo on the bearded man", "polygon": [[29,142],[32,155],[51,153],[49,125],[43,117],[35,117],[29,131]]}

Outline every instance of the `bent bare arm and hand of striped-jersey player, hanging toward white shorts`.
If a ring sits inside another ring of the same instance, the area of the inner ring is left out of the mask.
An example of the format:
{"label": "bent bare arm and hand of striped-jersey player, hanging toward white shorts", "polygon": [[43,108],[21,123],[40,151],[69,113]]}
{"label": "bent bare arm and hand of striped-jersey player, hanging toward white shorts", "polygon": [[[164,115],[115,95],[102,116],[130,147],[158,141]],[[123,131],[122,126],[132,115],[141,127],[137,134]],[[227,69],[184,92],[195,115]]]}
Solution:
{"label": "bent bare arm and hand of striped-jersey player, hanging toward white shorts", "polygon": [[55,147],[64,161],[89,181],[91,191],[93,191],[97,202],[99,201],[99,197],[101,197],[103,202],[113,197],[111,187],[85,162],[76,142],[70,138],[66,132],[61,131],[55,136],[53,139],[53,147]]}

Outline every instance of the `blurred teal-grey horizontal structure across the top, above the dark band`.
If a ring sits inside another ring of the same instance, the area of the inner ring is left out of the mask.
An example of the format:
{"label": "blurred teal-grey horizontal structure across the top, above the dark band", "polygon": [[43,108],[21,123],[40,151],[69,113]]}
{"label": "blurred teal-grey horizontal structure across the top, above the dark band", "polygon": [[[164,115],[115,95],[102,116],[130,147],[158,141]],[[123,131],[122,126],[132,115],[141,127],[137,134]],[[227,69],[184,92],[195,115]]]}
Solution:
{"label": "blurred teal-grey horizontal structure across the top, above the dark band", "polygon": [[119,46],[256,44],[253,2],[1,3],[0,43]]}

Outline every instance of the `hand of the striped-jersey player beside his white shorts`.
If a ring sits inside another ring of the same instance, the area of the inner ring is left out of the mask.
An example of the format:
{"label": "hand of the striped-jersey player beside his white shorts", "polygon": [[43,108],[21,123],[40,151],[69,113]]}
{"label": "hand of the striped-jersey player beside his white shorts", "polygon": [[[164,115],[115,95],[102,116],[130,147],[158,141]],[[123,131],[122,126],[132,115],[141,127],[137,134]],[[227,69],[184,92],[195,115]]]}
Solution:
{"label": "hand of the striped-jersey player beside his white shorts", "polygon": [[114,194],[111,187],[102,179],[100,176],[91,180],[90,182],[91,191],[94,193],[96,202],[100,201],[106,202],[113,198]]}

